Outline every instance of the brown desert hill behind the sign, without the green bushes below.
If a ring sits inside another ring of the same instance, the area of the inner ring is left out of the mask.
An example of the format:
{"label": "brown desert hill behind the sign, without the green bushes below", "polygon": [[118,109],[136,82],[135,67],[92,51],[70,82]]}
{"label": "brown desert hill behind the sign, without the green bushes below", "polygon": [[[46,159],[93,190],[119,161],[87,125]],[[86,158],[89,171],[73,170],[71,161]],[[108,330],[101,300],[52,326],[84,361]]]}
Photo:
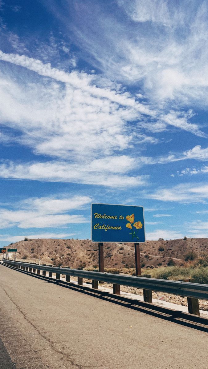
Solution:
{"label": "brown desert hill behind the sign, without the green bushes below", "polygon": [[[17,248],[17,260],[38,262],[40,258],[41,263],[72,268],[95,268],[98,265],[98,244],[88,239],[26,238],[25,241],[10,244],[6,248]],[[170,259],[175,265],[184,265],[186,261],[197,259],[204,254],[208,254],[208,238],[146,241],[140,244],[143,268],[170,265]],[[14,258],[14,253],[10,258]],[[134,268],[134,244],[104,243],[104,266],[117,269]]]}

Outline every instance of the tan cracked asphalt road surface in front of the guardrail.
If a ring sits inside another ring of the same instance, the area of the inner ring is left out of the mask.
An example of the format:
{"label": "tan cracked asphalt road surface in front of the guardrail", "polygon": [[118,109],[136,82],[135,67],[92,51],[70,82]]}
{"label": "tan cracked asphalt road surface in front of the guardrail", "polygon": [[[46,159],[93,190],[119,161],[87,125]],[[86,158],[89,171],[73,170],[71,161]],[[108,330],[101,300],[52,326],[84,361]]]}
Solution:
{"label": "tan cracked asphalt road surface in front of the guardrail", "polygon": [[208,367],[207,332],[1,264],[0,314],[17,369]]}

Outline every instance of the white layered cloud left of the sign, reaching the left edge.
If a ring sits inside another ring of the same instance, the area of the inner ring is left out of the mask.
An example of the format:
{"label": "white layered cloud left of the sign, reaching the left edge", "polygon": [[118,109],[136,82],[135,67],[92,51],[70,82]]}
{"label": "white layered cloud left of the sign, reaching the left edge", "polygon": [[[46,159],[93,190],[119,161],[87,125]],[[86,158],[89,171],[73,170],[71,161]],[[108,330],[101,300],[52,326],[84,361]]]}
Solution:
{"label": "white layered cloud left of the sign, reaching the left edge", "polygon": [[91,198],[88,196],[74,196],[67,198],[30,198],[20,201],[16,205],[18,210],[0,208],[0,228],[17,226],[19,228],[58,227],[67,224],[88,223],[82,214],[66,214],[71,210],[90,206]]}

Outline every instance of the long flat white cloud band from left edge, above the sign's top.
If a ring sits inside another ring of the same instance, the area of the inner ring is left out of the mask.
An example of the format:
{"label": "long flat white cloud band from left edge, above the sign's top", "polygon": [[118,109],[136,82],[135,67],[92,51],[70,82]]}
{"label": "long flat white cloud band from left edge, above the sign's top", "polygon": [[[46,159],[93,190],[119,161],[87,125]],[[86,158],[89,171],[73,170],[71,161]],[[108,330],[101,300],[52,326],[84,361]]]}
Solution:
{"label": "long flat white cloud band from left edge, above the sign's top", "polygon": [[83,163],[80,164],[59,161],[26,164],[7,162],[0,164],[0,177],[125,188],[147,184],[147,175],[128,176],[124,174],[129,169],[139,168],[139,165],[141,163],[137,165],[137,162],[128,156],[107,157],[91,162],[83,159]]}

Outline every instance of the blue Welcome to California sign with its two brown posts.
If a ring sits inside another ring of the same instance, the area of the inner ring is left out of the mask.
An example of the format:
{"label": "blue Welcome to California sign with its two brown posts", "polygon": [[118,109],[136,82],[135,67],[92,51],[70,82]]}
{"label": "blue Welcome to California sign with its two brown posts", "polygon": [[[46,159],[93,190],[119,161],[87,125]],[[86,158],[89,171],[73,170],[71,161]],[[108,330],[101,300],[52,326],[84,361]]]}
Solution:
{"label": "blue Welcome to California sign with its two brown posts", "polygon": [[98,242],[99,272],[104,272],[103,242],[134,242],[136,275],[141,275],[139,242],[145,242],[143,207],[92,204],[91,240]]}

